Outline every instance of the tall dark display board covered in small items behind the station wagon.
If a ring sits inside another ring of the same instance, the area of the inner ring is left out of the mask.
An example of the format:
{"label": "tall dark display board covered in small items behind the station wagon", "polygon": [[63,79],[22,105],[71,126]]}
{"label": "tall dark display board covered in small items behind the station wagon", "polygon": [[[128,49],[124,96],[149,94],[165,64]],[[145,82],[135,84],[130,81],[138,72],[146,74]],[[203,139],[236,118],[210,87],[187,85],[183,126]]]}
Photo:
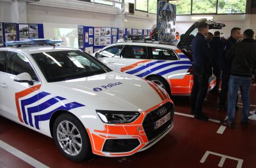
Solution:
{"label": "tall dark display board covered in small items behind the station wagon", "polygon": [[176,24],[176,5],[158,0],[157,7],[158,39],[162,42],[174,42]]}

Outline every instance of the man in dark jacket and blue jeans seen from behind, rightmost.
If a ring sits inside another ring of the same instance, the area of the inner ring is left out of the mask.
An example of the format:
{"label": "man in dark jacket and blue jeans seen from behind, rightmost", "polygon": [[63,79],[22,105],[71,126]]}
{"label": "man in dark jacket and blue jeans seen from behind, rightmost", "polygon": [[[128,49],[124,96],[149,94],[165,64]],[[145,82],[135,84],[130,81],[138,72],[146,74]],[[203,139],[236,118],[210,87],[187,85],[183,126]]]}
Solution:
{"label": "man in dark jacket and blue jeans seen from behind, rightmost", "polygon": [[242,126],[248,125],[250,111],[250,87],[253,67],[256,64],[256,43],[253,40],[253,30],[247,29],[243,33],[244,40],[231,46],[226,54],[226,60],[231,65],[230,81],[228,83],[228,119],[222,125],[234,128],[234,114],[236,95],[241,89],[243,101]]}

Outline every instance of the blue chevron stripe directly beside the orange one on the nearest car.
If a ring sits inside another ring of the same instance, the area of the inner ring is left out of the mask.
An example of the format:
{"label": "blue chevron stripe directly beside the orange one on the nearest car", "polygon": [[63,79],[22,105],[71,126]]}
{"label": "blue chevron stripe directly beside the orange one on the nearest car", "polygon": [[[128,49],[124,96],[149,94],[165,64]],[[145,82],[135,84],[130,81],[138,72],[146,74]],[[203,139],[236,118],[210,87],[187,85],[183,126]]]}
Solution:
{"label": "blue chevron stripe directly beside the orange one on the nearest car", "polygon": [[22,101],[20,101],[21,106],[22,106],[22,116],[23,116],[23,120],[25,122],[25,124],[28,124],[27,121],[27,117],[26,117],[26,111],[25,111],[25,106],[32,104],[36,101],[38,101],[39,99],[42,99],[43,97],[45,97],[46,95],[50,95],[51,93],[46,93],[44,91],[28,98],[28,99],[23,99]]}

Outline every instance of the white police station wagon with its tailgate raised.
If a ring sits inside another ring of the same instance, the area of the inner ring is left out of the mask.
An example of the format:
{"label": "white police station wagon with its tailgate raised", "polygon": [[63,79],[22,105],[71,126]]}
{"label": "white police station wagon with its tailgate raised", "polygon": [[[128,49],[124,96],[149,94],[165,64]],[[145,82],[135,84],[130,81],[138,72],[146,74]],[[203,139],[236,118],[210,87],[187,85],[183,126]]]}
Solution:
{"label": "white police station wagon with its tailgate raised", "polygon": [[[203,19],[210,29],[225,25]],[[191,41],[197,34],[197,24],[181,37],[177,46],[159,42],[120,42],[94,53],[110,69],[147,79],[160,85],[169,95],[190,95],[193,87]],[[208,90],[216,85],[216,77],[209,79]]]}

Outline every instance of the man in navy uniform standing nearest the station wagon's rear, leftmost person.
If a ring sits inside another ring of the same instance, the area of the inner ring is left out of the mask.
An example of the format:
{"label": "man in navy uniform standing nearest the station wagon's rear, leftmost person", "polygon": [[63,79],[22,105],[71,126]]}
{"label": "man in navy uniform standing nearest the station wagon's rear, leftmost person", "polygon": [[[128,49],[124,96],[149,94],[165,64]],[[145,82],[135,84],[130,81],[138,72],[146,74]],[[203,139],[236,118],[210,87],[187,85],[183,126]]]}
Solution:
{"label": "man in navy uniform standing nearest the station wagon's rear, leftmost person", "polygon": [[209,30],[208,25],[200,22],[197,28],[198,33],[192,40],[194,83],[191,91],[191,112],[195,114],[195,118],[207,121],[208,117],[201,112],[201,109],[207,93],[209,77],[212,76],[214,54],[205,39]]}

